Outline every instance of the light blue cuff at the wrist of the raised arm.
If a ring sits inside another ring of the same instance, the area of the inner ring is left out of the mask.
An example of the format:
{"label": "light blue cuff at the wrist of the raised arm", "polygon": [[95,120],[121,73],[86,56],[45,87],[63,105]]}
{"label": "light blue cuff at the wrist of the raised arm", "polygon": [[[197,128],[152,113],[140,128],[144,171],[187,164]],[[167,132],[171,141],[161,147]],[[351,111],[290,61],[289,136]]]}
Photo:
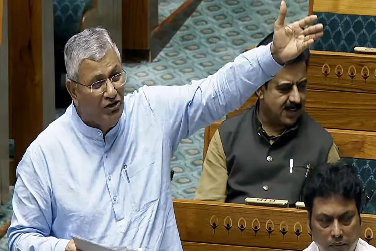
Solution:
{"label": "light blue cuff at the wrist of the raised arm", "polygon": [[[273,56],[272,56],[272,52],[271,52],[271,46],[272,46],[272,43],[270,42],[269,44],[265,45],[265,46],[259,46],[259,47],[256,47],[252,50],[249,50],[247,52],[245,52],[244,54],[251,54],[251,52],[253,50],[257,50],[257,60],[261,66],[261,69],[262,71],[268,75],[270,78],[273,78],[275,77],[275,75],[282,69],[283,65],[280,65],[279,63],[277,63]],[[254,52],[253,52],[254,53]],[[252,54],[253,54],[252,53]],[[249,58],[247,55],[245,55],[247,58]],[[254,55],[252,55],[254,57]],[[252,57],[250,55],[250,57]]]}

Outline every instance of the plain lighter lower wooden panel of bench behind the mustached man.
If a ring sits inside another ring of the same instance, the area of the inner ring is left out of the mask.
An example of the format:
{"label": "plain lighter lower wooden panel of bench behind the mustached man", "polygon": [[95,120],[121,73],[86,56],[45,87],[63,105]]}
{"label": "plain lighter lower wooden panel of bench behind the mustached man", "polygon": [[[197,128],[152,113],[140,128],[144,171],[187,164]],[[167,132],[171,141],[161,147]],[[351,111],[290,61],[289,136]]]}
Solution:
{"label": "plain lighter lower wooden panel of bench behind the mustached man", "polygon": [[[221,123],[222,121],[215,121],[205,128],[203,159],[208,151],[209,142]],[[376,132],[331,128],[326,130],[332,135],[341,157],[376,159]]]}

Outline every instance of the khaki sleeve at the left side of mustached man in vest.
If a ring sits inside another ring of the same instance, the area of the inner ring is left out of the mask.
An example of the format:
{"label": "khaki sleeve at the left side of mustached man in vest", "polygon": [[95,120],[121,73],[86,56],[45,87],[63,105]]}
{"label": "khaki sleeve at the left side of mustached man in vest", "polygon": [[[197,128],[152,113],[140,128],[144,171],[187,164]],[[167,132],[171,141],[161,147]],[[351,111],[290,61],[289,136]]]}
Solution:
{"label": "khaki sleeve at the left side of mustached man in vest", "polygon": [[217,130],[209,143],[195,200],[225,202],[227,179],[226,155]]}

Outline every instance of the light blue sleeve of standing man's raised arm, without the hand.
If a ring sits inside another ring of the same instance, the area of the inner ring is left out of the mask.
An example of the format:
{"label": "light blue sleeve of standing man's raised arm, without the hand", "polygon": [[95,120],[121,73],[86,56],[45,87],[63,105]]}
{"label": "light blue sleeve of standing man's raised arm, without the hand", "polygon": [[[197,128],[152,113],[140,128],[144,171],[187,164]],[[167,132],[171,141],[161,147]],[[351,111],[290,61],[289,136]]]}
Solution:
{"label": "light blue sleeve of standing man's raised arm, without the hand", "polygon": [[142,87],[139,91],[174,150],[181,139],[238,109],[281,68],[269,44],[240,54],[207,78],[183,86]]}

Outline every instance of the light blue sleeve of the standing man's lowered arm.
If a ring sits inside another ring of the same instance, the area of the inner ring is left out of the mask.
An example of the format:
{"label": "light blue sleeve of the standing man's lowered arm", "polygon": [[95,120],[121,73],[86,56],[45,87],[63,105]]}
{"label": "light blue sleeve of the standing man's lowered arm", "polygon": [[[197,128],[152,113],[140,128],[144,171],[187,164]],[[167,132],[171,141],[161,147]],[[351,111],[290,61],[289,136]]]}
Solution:
{"label": "light blue sleeve of the standing man's lowered arm", "polygon": [[17,167],[8,229],[10,251],[64,251],[69,240],[49,237],[52,224],[47,168],[38,151],[28,149]]}

